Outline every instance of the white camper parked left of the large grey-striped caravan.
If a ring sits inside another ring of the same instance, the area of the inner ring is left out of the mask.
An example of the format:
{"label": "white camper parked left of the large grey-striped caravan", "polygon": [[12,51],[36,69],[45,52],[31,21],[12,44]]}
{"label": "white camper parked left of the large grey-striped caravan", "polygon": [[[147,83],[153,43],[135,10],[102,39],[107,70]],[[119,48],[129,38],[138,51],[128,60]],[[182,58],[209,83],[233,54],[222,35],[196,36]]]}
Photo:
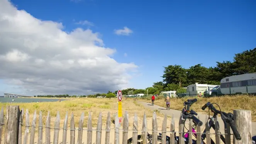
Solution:
{"label": "white camper parked left of the large grey-striped caravan", "polygon": [[218,85],[207,85],[207,84],[198,84],[198,83],[189,85],[186,88],[186,96],[197,96],[198,94],[200,95],[200,92],[201,92],[201,95],[203,96],[204,91],[211,90],[215,86],[218,86]]}

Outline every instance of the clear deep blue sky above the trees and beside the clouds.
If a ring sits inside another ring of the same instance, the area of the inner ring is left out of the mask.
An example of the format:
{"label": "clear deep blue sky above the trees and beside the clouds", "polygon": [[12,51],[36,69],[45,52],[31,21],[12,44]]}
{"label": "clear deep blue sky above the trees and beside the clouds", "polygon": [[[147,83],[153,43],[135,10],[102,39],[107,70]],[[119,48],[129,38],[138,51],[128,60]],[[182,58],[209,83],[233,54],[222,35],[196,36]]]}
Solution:
{"label": "clear deep blue sky above the trees and beside the clouds", "polygon": [[[163,66],[215,66],[256,47],[255,0],[12,0],[37,19],[62,22],[70,32],[88,20],[118,62],[134,62],[141,75],[131,87],[161,81]],[[129,36],[114,29],[129,27]],[[124,53],[127,56],[124,56]]]}

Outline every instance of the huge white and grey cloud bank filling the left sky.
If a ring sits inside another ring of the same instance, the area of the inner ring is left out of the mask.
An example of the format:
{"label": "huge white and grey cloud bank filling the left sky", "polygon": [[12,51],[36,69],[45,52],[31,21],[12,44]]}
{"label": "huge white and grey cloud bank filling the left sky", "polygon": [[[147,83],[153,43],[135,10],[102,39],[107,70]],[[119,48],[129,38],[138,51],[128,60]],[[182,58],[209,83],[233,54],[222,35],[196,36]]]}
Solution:
{"label": "huge white and grey cloud bank filling the left sky", "polygon": [[27,95],[114,91],[127,87],[137,68],[111,58],[115,49],[103,47],[97,32],[64,32],[61,23],[36,19],[8,0],[0,0],[0,27],[0,79]]}

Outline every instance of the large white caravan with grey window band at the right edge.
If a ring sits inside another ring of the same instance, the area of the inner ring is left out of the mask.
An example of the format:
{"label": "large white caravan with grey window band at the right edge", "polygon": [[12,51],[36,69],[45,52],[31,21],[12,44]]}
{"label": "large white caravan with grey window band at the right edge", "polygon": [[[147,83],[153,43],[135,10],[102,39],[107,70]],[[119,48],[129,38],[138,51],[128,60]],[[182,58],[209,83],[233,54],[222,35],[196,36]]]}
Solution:
{"label": "large white caravan with grey window band at the right edge", "polygon": [[256,73],[222,78],[220,80],[220,91],[223,94],[256,94]]}

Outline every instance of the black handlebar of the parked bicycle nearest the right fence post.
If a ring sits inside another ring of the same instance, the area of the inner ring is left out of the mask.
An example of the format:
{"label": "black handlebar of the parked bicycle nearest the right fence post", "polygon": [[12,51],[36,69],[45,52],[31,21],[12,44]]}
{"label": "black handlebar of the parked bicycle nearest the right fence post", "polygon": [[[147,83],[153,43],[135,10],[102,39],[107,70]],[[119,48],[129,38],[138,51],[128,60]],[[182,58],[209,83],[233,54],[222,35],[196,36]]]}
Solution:
{"label": "black handlebar of the parked bicycle nearest the right fence post", "polygon": [[228,122],[229,123],[229,125],[230,125],[230,127],[231,127],[231,129],[232,129],[232,131],[233,131],[233,133],[234,133],[234,135],[235,135],[235,137],[236,137],[236,139],[237,140],[240,140],[241,139],[241,136],[240,136],[240,134],[239,134],[239,132],[237,131],[237,129],[236,129],[236,126],[235,126],[235,124],[234,124],[234,119],[233,119],[233,114],[231,114],[231,113],[225,113],[225,112],[221,112],[221,111],[219,111],[219,110],[216,110],[216,108],[212,105],[212,103],[210,103],[210,102],[207,102],[207,103],[205,103],[205,105],[203,105],[203,107],[202,107],[202,110],[205,110],[205,108],[209,108],[212,112],[214,112],[215,114],[220,114],[220,116],[221,116],[221,119],[224,121],[224,122]]}

